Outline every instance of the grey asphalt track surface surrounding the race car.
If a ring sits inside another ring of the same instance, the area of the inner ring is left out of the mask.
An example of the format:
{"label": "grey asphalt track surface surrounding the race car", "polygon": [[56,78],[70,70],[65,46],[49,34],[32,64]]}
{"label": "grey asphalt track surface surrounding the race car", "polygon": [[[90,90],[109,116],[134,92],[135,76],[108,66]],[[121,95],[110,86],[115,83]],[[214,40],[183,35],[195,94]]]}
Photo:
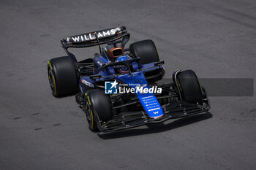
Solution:
{"label": "grey asphalt track surface surrounding the race car", "polygon": [[[256,168],[255,96],[211,97],[206,115],[99,135],[47,76],[65,55],[59,39],[127,26],[129,43],[154,40],[165,77],[255,79],[255,1],[1,0],[0,18],[1,170]],[[97,51],[72,50],[78,60]]]}

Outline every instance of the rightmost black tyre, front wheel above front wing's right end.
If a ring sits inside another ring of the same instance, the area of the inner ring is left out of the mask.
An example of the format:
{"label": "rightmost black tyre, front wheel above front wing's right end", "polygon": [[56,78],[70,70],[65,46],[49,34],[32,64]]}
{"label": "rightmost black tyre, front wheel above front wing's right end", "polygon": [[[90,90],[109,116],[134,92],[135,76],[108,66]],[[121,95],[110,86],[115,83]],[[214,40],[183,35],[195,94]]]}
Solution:
{"label": "rightmost black tyre, front wheel above front wing's right end", "polygon": [[191,104],[203,104],[203,95],[197,75],[192,70],[177,74],[178,88],[184,101]]}

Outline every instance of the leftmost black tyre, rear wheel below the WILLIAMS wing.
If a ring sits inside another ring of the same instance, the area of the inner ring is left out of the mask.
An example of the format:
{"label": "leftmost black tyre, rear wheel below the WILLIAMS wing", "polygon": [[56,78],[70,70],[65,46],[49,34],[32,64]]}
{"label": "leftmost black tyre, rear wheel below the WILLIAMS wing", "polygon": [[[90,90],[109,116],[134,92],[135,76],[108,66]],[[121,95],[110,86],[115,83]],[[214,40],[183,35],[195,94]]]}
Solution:
{"label": "leftmost black tyre, rear wheel below the WILLIAMS wing", "polygon": [[55,97],[72,95],[78,91],[77,71],[69,57],[53,58],[48,61],[48,78]]}

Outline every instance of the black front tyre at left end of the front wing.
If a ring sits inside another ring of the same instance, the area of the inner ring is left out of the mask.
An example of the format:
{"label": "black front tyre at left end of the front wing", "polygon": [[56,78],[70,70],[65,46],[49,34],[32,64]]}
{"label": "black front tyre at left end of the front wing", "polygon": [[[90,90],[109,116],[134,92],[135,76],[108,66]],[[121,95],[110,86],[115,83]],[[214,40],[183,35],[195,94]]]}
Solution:
{"label": "black front tyre at left end of the front wing", "polygon": [[98,120],[101,120],[102,123],[104,123],[113,117],[110,107],[110,98],[105,95],[104,90],[88,90],[85,96],[84,106],[86,119],[91,131],[97,131],[97,124],[99,124]]}

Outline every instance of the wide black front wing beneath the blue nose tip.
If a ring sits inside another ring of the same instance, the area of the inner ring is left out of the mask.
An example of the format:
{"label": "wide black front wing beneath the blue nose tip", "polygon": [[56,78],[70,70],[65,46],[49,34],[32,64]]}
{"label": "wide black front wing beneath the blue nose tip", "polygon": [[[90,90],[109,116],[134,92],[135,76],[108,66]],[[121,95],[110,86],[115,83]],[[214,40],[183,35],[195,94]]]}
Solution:
{"label": "wide black front wing beneath the blue nose tip", "polygon": [[[208,99],[207,99],[208,100]],[[203,105],[188,104],[183,101],[176,101],[163,107],[164,115],[156,119],[148,117],[146,112],[122,112],[106,123],[99,121],[99,129],[102,132],[120,131],[127,128],[135,128],[148,123],[162,123],[166,120],[187,117],[206,112],[210,105],[204,102]],[[98,118],[98,117],[97,117]],[[99,118],[98,118],[99,119]]]}

